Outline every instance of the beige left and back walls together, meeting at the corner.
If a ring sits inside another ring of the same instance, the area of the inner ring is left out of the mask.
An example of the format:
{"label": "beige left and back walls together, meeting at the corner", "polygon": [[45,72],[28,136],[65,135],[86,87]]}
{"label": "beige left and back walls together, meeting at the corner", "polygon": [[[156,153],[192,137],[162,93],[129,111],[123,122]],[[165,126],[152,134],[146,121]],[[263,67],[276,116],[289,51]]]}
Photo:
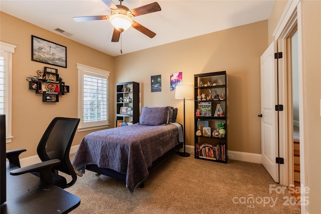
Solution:
{"label": "beige left and back walls together, meeting at the corner", "polygon": [[[180,109],[178,122],[183,123],[183,102],[176,100],[174,92],[170,91],[170,74],[183,72],[183,84],[193,85],[194,74],[226,70],[229,93],[228,149],[259,154],[261,152],[260,119],[257,117],[260,112],[259,59],[268,44],[267,26],[267,21],[262,21],[112,58],[2,13],[1,41],[18,45],[13,65],[14,139],[7,145],[8,149],[25,147],[28,152],[22,157],[35,155],[38,141],[53,117],[77,117],[76,63],[81,63],[111,71],[109,118],[112,127],[115,119],[113,100],[116,82],[139,82],[141,105],[178,107]],[[61,96],[59,103],[43,103],[39,95],[28,90],[25,77],[47,66],[31,61],[31,35],[67,47],[68,68],[50,66],[58,68],[60,76],[67,85],[70,85],[70,93]],[[150,76],[159,74],[162,75],[162,92],[151,93]],[[187,100],[188,145],[194,145],[193,117],[194,102]],[[21,118],[25,122],[22,122]],[[77,132],[73,145],[79,144],[87,133]]]}

